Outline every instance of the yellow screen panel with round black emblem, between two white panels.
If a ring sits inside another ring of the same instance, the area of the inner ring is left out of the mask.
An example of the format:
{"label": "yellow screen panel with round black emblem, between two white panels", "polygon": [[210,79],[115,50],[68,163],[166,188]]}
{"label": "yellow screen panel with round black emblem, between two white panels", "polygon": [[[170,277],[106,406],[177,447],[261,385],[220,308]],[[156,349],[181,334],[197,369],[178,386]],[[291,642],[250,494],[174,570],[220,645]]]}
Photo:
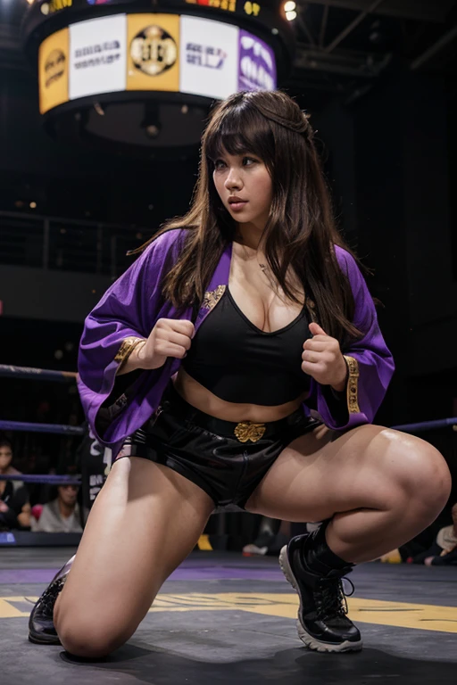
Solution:
{"label": "yellow screen panel with round black emblem, between two white panels", "polygon": [[127,90],[179,91],[179,16],[127,18]]}

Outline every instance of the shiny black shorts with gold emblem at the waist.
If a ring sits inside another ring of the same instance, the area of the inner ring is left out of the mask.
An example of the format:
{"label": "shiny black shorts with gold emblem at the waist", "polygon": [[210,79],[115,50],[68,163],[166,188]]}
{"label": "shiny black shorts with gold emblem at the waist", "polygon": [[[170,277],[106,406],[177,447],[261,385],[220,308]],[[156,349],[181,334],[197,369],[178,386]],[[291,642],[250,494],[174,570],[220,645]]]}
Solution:
{"label": "shiny black shorts with gold emblem at the waist", "polygon": [[160,407],[115,457],[142,457],[196,483],[216,507],[245,507],[282,450],[321,422],[303,409],[279,421],[234,423],[195,409],[170,381]]}

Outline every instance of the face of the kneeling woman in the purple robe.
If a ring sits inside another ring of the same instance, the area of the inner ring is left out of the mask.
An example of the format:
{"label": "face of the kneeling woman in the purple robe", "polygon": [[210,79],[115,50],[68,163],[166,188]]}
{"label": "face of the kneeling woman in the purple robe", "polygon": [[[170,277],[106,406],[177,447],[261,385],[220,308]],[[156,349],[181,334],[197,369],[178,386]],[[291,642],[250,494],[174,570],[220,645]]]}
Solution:
{"label": "face of the kneeling woman in the purple robe", "polygon": [[[273,186],[270,173],[255,154],[224,154],[212,173],[220,200],[233,219],[263,229],[270,215]],[[236,198],[243,202],[237,202]]]}

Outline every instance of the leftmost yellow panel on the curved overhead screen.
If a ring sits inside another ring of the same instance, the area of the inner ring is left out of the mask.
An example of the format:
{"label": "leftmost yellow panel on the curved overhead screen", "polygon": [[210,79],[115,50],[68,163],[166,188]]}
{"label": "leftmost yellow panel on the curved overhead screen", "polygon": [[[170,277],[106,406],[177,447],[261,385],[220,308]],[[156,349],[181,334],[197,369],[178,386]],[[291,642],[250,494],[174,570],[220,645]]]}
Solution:
{"label": "leftmost yellow panel on the curved overhead screen", "polygon": [[39,111],[46,111],[68,101],[68,29],[57,31],[39,46]]}

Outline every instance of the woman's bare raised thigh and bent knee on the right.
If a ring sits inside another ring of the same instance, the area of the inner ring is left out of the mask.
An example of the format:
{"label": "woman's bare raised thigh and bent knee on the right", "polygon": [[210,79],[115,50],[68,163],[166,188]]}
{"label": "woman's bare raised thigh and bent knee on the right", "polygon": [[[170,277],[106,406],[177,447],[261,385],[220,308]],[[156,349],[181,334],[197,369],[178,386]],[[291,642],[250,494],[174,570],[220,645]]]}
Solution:
{"label": "woman's bare raised thigh and bent knee on the right", "polygon": [[296,522],[363,508],[427,509],[428,517],[449,487],[444,458],[420,438],[379,425],[343,434],[322,425],[281,452],[245,508]]}

